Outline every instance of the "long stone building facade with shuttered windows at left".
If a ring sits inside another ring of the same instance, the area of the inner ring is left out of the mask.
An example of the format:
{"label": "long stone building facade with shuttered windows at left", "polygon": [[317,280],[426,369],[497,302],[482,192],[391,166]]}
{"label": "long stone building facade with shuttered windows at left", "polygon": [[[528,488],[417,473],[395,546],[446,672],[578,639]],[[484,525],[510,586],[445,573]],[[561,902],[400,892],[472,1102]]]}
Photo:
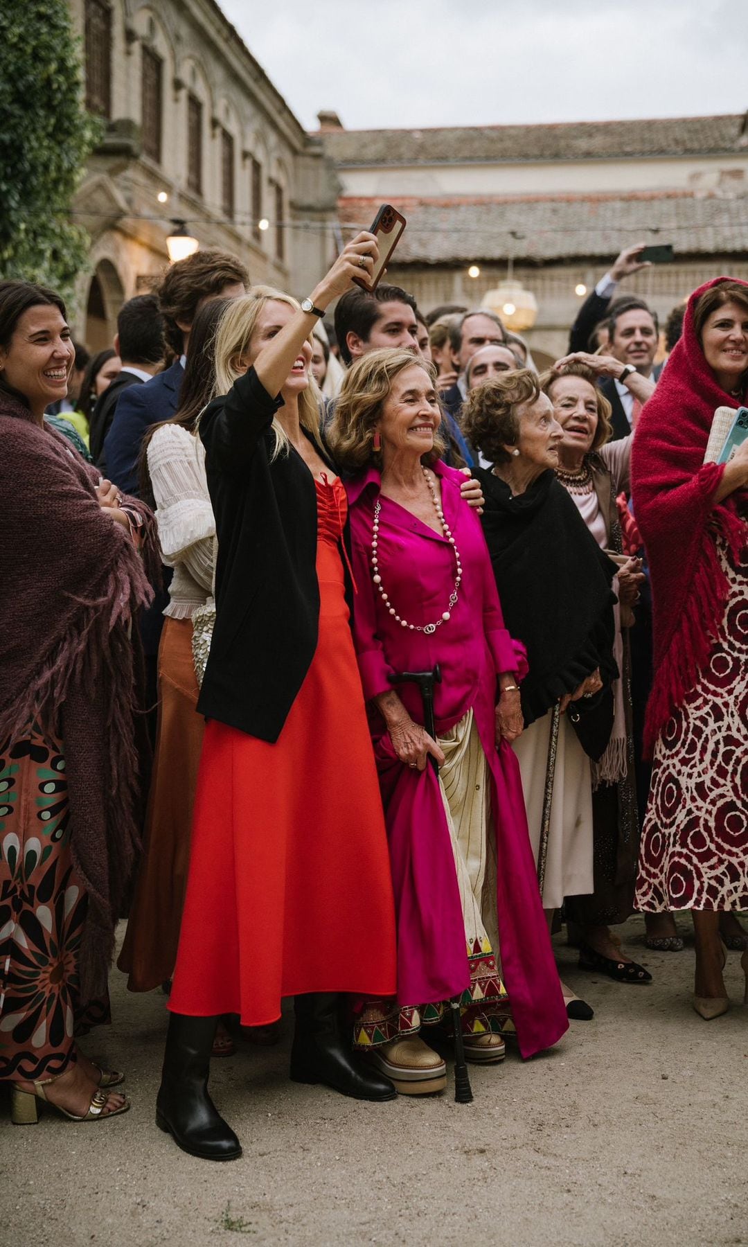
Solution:
{"label": "long stone building facade with shuttered windows at left", "polygon": [[75,323],[89,347],[163,271],[172,219],[253,282],[308,293],[335,253],[337,180],[214,0],[70,7],[86,102],[107,123],[75,203],[92,239]]}

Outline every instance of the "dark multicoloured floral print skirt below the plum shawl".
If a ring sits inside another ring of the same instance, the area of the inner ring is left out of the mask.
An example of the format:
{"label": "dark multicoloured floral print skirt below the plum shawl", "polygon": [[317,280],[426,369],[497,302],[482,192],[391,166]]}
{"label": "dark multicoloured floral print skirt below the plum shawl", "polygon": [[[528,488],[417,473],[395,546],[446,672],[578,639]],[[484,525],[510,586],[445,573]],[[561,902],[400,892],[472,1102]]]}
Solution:
{"label": "dark multicoloured floral print skirt below the plum shawl", "polygon": [[62,743],[34,722],[0,747],[0,1079],[61,1074],[74,1035],[108,1021],[108,999],[80,1009],[86,909]]}

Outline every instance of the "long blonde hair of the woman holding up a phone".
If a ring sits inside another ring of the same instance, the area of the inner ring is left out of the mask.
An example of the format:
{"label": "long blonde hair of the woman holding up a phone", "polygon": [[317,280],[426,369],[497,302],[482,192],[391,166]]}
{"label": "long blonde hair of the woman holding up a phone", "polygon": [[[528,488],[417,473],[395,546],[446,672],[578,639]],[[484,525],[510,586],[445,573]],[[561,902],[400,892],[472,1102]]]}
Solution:
{"label": "long blonde hair of the woman holding up a phone", "polygon": [[[276,291],[272,286],[253,286],[248,294],[238,299],[232,299],[226,312],[221,317],[216,333],[216,378],[211,398],[228,394],[233,383],[244,374],[246,369],[239,367],[239,359],[247,354],[252,335],[257,329],[261,313],[267,303],[287,303],[294,312],[299,312],[298,302],[283,291]],[[317,382],[308,372],[309,384],[299,394],[299,420],[314,441],[322,446],[320,420],[322,420],[322,395]],[[280,421],[273,418],[273,433],[276,445],[272,459],[280,454],[288,454],[290,443]]]}

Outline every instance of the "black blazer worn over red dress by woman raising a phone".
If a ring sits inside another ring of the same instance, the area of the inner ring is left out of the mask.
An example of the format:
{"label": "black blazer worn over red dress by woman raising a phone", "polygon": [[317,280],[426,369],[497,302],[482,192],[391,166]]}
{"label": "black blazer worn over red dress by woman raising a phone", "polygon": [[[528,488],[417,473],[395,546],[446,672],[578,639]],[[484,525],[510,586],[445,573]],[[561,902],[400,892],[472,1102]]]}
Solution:
{"label": "black blazer worn over red dress by woman raising a phone", "polygon": [[[197,708],[271,743],[309,670],[319,624],[314,478],[293,448],[271,461],[271,425],[282,405],[251,368],[199,421],[218,561]],[[327,453],[322,458],[332,469]],[[349,549],[348,532],[345,541]],[[350,590],[347,574],[349,606]]]}

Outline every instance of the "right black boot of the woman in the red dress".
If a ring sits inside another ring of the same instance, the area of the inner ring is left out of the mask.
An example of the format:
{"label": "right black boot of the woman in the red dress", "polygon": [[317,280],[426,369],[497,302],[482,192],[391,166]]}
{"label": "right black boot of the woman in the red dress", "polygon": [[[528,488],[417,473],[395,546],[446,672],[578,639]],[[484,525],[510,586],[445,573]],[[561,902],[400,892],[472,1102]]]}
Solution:
{"label": "right black boot of the woman in the red dress", "polygon": [[394,1100],[394,1085],[350,1051],[340,1026],[340,996],[314,991],[294,996],[295,1030],[290,1049],[294,1082],[324,1082],[354,1100]]}

